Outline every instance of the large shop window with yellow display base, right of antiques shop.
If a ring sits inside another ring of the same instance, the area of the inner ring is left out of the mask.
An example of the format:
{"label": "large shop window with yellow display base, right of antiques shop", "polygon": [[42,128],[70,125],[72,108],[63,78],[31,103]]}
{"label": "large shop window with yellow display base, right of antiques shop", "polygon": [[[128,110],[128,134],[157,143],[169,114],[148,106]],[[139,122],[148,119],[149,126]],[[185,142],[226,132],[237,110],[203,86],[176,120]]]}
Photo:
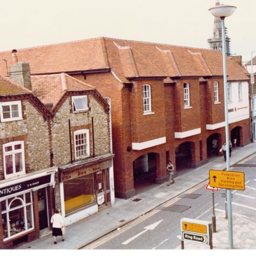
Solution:
{"label": "large shop window with yellow display base, right of antiques shop", "polygon": [[65,214],[96,202],[93,174],[63,182]]}

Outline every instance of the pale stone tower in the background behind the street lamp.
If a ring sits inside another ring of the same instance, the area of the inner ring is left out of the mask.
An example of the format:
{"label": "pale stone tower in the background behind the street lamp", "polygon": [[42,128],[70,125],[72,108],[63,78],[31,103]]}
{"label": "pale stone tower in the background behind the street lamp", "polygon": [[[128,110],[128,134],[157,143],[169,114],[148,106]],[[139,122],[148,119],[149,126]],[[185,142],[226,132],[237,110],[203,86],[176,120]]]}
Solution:
{"label": "pale stone tower in the background behind the street lamp", "polygon": [[[216,0],[215,5],[220,5],[219,0]],[[227,36],[227,29],[226,31],[226,53],[227,56],[231,55],[230,52],[230,38]],[[214,17],[214,25],[213,25],[213,38],[209,38],[208,43],[210,44],[210,48],[213,50],[219,50],[222,52],[222,31],[221,31],[221,19]]]}

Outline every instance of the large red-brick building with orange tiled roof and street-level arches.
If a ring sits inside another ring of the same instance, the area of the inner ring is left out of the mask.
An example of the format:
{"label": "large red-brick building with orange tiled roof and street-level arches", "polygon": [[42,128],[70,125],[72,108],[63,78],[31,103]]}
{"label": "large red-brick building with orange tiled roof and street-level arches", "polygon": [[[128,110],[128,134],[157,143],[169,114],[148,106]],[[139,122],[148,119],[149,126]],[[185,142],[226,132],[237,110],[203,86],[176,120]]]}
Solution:
{"label": "large red-brick building with orange tiled roof and street-level arches", "polygon": [[[96,38],[22,49],[33,75],[65,72],[111,98],[115,193],[164,183],[171,159],[179,171],[211,157],[225,140],[223,65],[219,51]],[[7,59],[10,52],[0,53]],[[40,56],[40,58],[35,58]],[[0,72],[6,73],[3,62]],[[228,57],[230,137],[250,143],[248,78]],[[145,181],[147,180],[147,181]]]}

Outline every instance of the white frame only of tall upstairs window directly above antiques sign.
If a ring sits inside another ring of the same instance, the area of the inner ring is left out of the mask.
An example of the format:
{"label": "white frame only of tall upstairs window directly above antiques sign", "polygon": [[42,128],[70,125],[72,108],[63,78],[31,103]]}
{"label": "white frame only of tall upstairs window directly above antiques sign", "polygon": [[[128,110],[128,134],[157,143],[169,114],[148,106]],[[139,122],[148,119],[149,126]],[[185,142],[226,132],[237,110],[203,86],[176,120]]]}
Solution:
{"label": "white frame only of tall upstairs window directly above antiques sign", "polygon": [[[15,145],[19,145],[19,144],[21,144],[21,149],[18,149],[18,150],[13,149],[12,151],[5,152],[5,149],[4,149],[5,147],[11,146],[14,148]],[[15,157],[14,157],[16,153],[22,153],[22,171],[21,172],[16,172]],[[12,155],[12,167],[14,169],[14,172],[11,174],[6,174],[5,156],[10,156],[10,155]],[[19,175],[26,173],[24,142],[23,141],[10,142],[10,143],[4,144],[3,145],[3,158],[4,158],[4,177],[5,177],[5,179],[12,178],[12,177],[19,176]]]}

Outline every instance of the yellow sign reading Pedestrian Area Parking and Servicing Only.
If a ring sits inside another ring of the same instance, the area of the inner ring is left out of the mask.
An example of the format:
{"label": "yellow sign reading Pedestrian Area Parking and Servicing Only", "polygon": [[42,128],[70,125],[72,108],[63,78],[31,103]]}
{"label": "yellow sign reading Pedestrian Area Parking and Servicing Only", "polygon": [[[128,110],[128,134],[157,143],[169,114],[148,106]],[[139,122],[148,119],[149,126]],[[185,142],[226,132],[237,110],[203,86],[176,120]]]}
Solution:
{"label": "yellow sign reading Pedestrian Area Parking and Servicing Only", "polygon": [[245,190],[245,173],[210,170],[211,187],[227,188],[230,190]]}

